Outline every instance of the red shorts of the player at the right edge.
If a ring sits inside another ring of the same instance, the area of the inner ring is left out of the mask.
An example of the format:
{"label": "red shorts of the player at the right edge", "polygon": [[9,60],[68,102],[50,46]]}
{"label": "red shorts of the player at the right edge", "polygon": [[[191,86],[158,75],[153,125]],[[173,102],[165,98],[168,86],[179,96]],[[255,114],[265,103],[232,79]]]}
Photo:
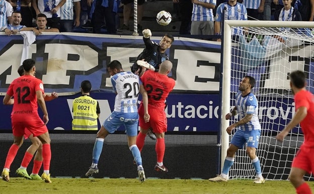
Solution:
{"label": "red shorts of the player at the right edge", "polygon": [[301,146],[293,159],[292,167],[305,170],[311,173],[314,169],[314,149]]}

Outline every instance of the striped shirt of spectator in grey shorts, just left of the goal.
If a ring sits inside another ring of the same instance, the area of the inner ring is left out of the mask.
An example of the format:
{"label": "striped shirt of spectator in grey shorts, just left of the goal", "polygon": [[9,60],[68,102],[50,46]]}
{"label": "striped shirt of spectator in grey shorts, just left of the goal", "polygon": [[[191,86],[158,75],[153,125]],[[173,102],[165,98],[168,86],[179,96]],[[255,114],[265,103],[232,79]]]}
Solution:
{"label": "striped shirt of spectator in grey shorts, just left of the goal", "polygon": [[[216,6],[216,0],[199,0],[199,1]],[[214,21],[212,9],[205,8],[198,4],[193,4],[191,21]]]}

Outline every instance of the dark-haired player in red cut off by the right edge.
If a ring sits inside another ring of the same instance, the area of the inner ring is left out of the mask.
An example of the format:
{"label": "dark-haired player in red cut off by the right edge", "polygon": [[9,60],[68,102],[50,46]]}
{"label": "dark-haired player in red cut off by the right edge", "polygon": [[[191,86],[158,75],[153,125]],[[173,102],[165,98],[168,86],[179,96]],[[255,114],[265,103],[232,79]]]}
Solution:
{"label": "dark-haired player in red cut off by the right edge", "polygon": [[290,74],[290,87],[294,94],[295,114],[288,125],[277,135],[278,141],[283,141],[284,137],[294,126],[300,123],[304,134],[304,142],[293,159],[289,175],[290,182],[296,189],[296,193],[312,193],[308,184],[303,179],[304,174],[314,170],[314,96],[306,91],[305,74],[301,71],[294,71]]}

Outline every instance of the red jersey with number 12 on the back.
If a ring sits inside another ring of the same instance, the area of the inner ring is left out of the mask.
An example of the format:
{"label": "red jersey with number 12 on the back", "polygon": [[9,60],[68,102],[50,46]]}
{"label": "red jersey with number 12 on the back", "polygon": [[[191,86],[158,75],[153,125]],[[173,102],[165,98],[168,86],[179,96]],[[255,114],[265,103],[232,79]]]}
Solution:
{"label": "red jersey with number 12 on the back", "polygon": [[9,86],[7,94],[14,96],[12,114],[38,113],[36,91],[44,93],[41,80],[25,75],[15,79]]}

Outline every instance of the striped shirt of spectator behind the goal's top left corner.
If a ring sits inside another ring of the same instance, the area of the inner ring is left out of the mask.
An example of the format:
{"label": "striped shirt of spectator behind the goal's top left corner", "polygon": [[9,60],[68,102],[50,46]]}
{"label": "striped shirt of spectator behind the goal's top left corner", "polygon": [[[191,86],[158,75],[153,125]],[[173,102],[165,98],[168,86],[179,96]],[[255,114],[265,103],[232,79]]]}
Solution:
{"label": "striped shirt of spectator behind the goal's top left corner", "polygon": [[[223,10],[225,10],[224,16],[222,15]],[[230,6],[227,2],[225,2],[218,6],[215,21],[221,22],[222,17],[224,17],[225,20],[248,20],[248,13],[243,4],[237,3],[234,6]],[[240,35],[241,30],[233,28],[232,33]]]}

